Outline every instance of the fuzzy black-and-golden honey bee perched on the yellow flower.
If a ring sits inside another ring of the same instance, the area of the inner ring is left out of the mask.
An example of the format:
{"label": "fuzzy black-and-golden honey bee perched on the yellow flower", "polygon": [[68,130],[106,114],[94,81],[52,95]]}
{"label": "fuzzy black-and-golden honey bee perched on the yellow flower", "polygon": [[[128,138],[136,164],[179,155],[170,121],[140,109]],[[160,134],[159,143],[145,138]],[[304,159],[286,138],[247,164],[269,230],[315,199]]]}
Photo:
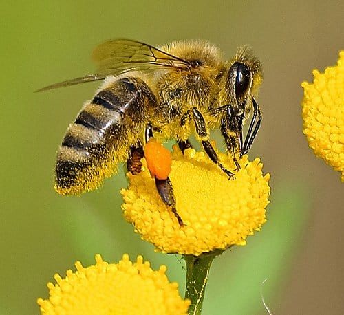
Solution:
{"label": "fuzzy black-and-golden honey bee perched on the yellow flower", "polygon": [[[255,97],[261,85],[261,63],[247,47],[226,61],[215,45],[200,40],[175,41],[153,47],[114,39],[98,45],[92,57],[96,74],[50,85],[57,87],[104,80],[69,125],[58,148],[55,189],[61,195],[91,191],[127,162],[141,170],[143,146],[149,138],[175,139],[182,151],[195,135],[206,154],[229,177],[209,139],[220,129],[237,169],[261,124]],[[246,137],[243,124],[253,112]],[[169,178],[155,183],[162,200],[175,210]]]}

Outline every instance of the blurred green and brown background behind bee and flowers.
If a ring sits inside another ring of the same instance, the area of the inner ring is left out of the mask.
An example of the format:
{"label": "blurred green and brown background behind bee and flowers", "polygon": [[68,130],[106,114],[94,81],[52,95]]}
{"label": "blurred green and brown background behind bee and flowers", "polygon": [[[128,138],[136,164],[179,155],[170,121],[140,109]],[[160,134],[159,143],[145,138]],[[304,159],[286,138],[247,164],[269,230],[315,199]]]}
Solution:
{"label": "blurred green and brown background behind bee and flowers", "polygon": [[[0,314],[38,314],[46,283],[100,253],[143,254],[184,290],[184,262],[155,254],[122,217],[122,168],[103,188],[60,197],[56,149],[97,83],[33,91],[94,71],[107,39],[211,41],[230,57],[248,44],[264,65],[263,125],[250,151],[272,178],[268,222],[213,263],[204,314],[343,314],[343,184],[302,134],[303,80],[344,48],[343,1],[7,1],[1,4]],[[184,294],[184,292],[183,292]]]}

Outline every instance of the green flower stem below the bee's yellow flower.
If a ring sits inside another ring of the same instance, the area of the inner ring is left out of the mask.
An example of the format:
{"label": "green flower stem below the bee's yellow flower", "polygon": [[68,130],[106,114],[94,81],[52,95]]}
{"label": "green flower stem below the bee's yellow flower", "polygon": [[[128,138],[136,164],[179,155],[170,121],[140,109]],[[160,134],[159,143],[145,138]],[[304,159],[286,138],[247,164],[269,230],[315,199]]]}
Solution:
{"label": "green flower stem below the bee's yellow flower", "polygon": [[189,315],[201,314],[209,269],[215,256],[221,253],[222,250],[202,254],[198,257],[184,255],[186,264],[185,298],[189,298],[191,301]]}

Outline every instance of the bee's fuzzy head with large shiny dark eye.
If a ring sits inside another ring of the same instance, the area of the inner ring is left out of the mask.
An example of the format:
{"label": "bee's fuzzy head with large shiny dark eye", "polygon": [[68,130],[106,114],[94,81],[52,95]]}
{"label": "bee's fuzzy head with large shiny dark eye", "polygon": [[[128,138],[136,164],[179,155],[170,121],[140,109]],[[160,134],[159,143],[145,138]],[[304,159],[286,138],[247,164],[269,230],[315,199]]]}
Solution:
{"label": "bee's fuzzy head with large shiny dark eye", "polygon": [[257,94],[261,78],[261,63],[252,55],[248,47],[239,48],[233,60],[228,63],[224,83],[228,103],[243,111],[249,110],[246,103],[252,103],[252,96]]}

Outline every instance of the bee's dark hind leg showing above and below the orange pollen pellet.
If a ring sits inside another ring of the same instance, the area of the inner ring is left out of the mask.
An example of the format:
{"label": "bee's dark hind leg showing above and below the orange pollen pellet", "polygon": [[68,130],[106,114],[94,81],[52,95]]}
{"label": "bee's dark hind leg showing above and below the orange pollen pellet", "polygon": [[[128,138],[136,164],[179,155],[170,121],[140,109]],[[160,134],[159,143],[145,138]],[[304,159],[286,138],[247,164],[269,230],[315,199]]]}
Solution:
{"label": "bee's dark hind leg showing above and below the orange pollen pellet", "polygon": [[[149,139],[153,137],[153,127],[151,126],[151,124],[147,124],[147,127],[144,130],[144,139],[146,143],[149,142]],[[164,204],[166,204],[166,206],[171,208],[171,211],[173,215],[175,215],[175,217],[177,218],[179,225],[183,226],[184,224],[182,218],[180,217],[180,215],[178,215],[177,209],[175,208],[175,197],[173,193],[173,186],[171,180],[169,179],[169,177],[167,177],[166,180],[159,180],[155,176],[154,179],[156,190],[158,191],[162,201],[164,202]]]}

